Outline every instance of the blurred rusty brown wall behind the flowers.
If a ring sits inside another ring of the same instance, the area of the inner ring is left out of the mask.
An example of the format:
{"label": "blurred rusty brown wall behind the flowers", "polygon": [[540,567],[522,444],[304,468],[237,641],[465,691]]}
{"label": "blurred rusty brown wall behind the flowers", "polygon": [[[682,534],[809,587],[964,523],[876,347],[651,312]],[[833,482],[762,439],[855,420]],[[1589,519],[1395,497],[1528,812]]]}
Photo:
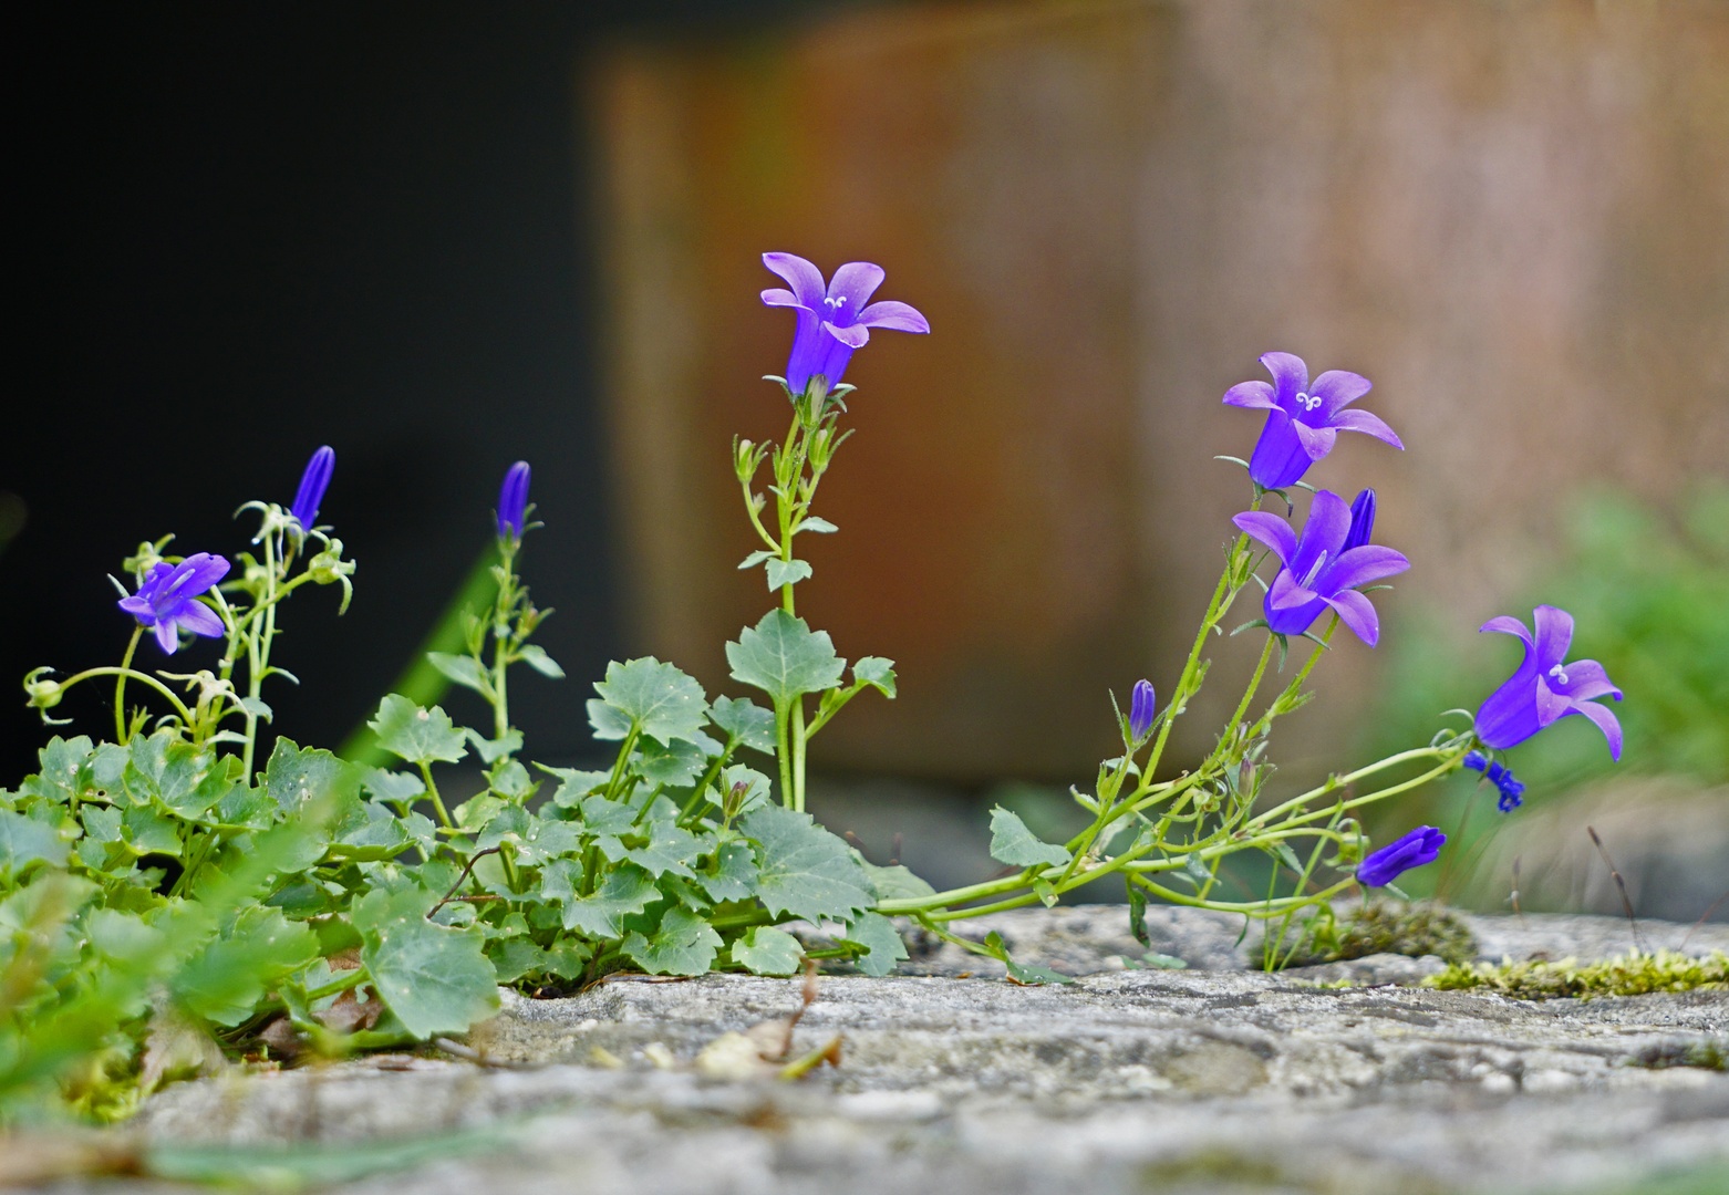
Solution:
{"label": "blurred rusty brown wall behind the flowers", "polygon": [[[903,695],[828,766],[1084,775],[1105,687],[1174,681],[1247,489],[1210,457],[1259,429],[1219,396],[1266,349],[1371,377],[1409,446],[1311,474],[1381,491],[1388,617],[1499,612],[1580,482],[1729,462],[1726,3],[897,5],[597,78],[638,650],[723,687],[769,605],[728,458],[787,422],[759,254],[878,261],[930,318],[847,374],[801,614]],[[1326,668],[1309,747],[1371,702],[1366,649]]]}

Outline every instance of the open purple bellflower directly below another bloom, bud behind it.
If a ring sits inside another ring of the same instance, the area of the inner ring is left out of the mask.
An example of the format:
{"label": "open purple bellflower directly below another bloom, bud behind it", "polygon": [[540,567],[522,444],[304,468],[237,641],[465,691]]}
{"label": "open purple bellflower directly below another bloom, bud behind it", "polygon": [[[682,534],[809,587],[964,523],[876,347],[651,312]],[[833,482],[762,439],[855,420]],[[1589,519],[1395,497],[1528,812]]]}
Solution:
{"label": "open purple bellflower directly below another bloom, bud behind it", "polygon": [[1380,617],[1359,585],[1404,572],[1404,553],[1368,543],[1375,526],[1375,493],[1357,495],[1356,515],[1331,489],[1316,493],[1302,536],[1274,514],[1245,510],[1231,519],[1250,538],[1273,548],[1285,567],[1273,578],[1262,602],[1267,629],[1302,635],[1321,610],[1331,607],[1369,647],[1381,635]]}

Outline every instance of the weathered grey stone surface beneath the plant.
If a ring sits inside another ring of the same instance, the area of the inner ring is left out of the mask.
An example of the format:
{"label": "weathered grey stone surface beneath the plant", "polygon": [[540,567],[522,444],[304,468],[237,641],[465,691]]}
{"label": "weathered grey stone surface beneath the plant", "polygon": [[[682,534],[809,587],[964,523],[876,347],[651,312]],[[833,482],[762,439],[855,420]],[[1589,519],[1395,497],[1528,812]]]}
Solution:
{"label": "weathered grey stone surface beneath the plant", "polygon": [[[1155,913],[1167,953],[1229,963],[1229,918]],[[1591,956],[1625,946],[1625,923],[1606,920],[1473,929],[1492,953]],[[621,977],[569,1000],[508,998],[470,1034],[488,1067],[394,1058],[180,1084],[137,1128],[256,1145],[450,1134],[448,1159],[344,1190],[462,1195],[1551,1192],[1729,1167],[1729,1076],[1675,1065],[1729,1048],[1722,993],[1530,1003],[1113,970],[1105,960],[1141,949],[1117,939],[1120,908],[992,927],[1017,958],[1093,974],[1043,987],[823,977],[792,1055],[839,1034],[842,1065],[797,1083],[712,1081],[693,1064],[723,1034],[792,1013],[799,981]],[[1653,944],[1686,934],[1643,930]],[[1691,946],[1722,936],[1708,927]],[[1395,956],[1333,967],[1430,968]]]}

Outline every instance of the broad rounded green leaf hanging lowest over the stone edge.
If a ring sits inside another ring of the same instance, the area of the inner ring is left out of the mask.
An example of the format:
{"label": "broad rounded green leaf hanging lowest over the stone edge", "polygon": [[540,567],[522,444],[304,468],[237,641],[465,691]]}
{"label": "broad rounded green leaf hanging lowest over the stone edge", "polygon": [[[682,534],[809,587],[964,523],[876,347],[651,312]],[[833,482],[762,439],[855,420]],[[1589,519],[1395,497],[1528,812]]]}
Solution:
{"label": "broad rounded green leaf hanging lowest over the stone edge", "polygon": [[373,989],[417,1038],[462,1032],[498,1008],[498,979],[481,936],[434,925],[425,918],[429,901],[420,889],[373,891],[353,911]]}

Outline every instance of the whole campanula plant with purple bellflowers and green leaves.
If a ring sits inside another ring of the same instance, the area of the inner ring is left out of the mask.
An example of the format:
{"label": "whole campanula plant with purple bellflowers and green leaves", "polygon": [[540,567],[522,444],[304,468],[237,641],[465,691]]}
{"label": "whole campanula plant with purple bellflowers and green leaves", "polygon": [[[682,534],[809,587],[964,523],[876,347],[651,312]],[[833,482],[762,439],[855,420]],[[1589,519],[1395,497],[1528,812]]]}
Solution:
{"label": "whole campanula plant with purple bellflowers and green leaves", "polygon": [[[852,434],[842,427],[852,353],[871,330],[930,325],[906,303],[871,301],[885,277],[877,265],[847,263],[825,282],[802,258],[762,261],[788,284],[762,303],[795,315],[785,377],[769,377],[790,422],[778,444],[735,439],[731,458],[761,541],[740,569],[762,569],[769,609],[724,645],[737,693],[711,695],[652,657],[610,664],[586,704],[593,737],[612,752],[603,768],[534,763],[512,723],[514,668],[564,678],[531,642],[552,610],[522,579],[541,527],[527,462],[508,467],[491,510],[489,598],[453,612],[462,650],[429,654],[437,674],[484,702],[488,725],[389,693],[368,723],[382,756],[365,761],[303,747],[284,728],[258,757],[273,716],[265,681],[294,680],[273,659],[284,602],[304,585],[339,585],[341,614],[353,593],[354,562],[318,522],[337,481],[329,446],[311,455],[287,508],[240,507],[258,531],[232,564],[209,550],[164,555],[171,536],[140,545],[124,564],[133,585],[116,583],[131,628],[119,666],[24,678],[50,723],[69,690],[114,678],[114,738],[52,738],[41,771],[0,792],[0,923],[16,930],[0,955],[0,1115],[17,1093],[55,1088],[86,1112],[123,1114],[171,1077],[161,1057],[144,1060],[152,1038],[171,1036],[175,1057],[204,1062],[332,1055],[458,1032],[498,1006],[498,984],[557,994],[619,970],[790,975],[806,960],[882,975],[906,958],[896,917],[1001,960],[1017,981],[1044,982],[1060,977],[953,923],[1051,904],[1105,877],[1126,884],[1136,932],[1158,899],[1276,920],[1283,937],[1293,917],[1319,917],[1352,889],[1392,889],[1444,849],[1433,827],[1371,849],[1362,806],[1473,768],[1511,808],[1520,787],[1494,752],[1570,713],[1599,725],[1618,754],[1615,719],[1594,699],[1620,690],[1591,661],[1565,662],[1572,621],[1539,607],[1535,633],[1513,619],[1485,626],[1518,635],[1527,655],[1473,726],[1266,799],[1274,725],[1312,697],[1305,685],[1340,623],[1376,645],[1368,593],[1411,567],[1373,541],[1373,491],[1347,505],[1302,481],[1340,429],[1402,446],[1350,406],[1369,382],[1342,370],[1311,382],[1300,358],[1269,353],[1274,384],[1245,382],[1224,398],[1267,412],[1252,460],[1238,462],[1250,508],[1233,519],[1224,571],[1167,700],[1152,680],[1136,681],[1127,713],[1115,713],[1120,752],[1089,790],[1074,789],[1088,827],[1044,842],[996,809],[991,853],[1008,872],[946,892],[904,866],[870,865],[806,813],[809,747],[866,690],[892,699],[897,678],[889,659],[842,657],[799,616],[797,586],[814,578],[799,536],[839,531],[814,505]],[[1314,495],[1300,521],[1293,486]],[[1260,508],[1269,493],[1283,514]],[[472,502],[479,519],[484,496]],[[1260,617],[1231,633],[1262,636],[1259,662],[1212,751],[1171,775],[1165,749],[1207,680],[1207,643],[1250,585]],[[140,662],[145,633],[154,645]],[[1257,700],[1269,669],[1283,674],[1293,638],[1312,643],[1305,661]],[[159,668],[169,659],[197,671]],[[128,681],[144,704],[128,706]],[[446,797],[453,764],[469,770],[460,802]],[[1413,764],[1418,775],[1383,780]],[[1274,865],[1260,899],[1219,891],[1221,866],[1243,851]],[[1273,965],[1278,939],[1269,943]]]}

